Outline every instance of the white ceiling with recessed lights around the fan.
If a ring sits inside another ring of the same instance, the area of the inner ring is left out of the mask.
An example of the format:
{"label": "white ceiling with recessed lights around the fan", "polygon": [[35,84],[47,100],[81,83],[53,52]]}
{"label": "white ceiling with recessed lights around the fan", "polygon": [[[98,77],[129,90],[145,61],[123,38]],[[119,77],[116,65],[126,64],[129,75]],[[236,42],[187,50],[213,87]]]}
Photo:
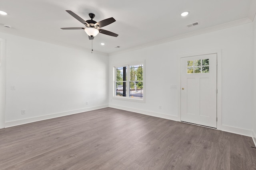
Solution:
{"label": "white ceiling with recessed lights around the fan", "polygon": [[[193,31],[223,25],[236,20],[252,21],[254,0],[1,0],[0,32],[90,50],[91,41],[83,30],[62,30],[61,27],[84,27],[65,10],[84,20],[89,13],[95,21],[113,17],[116,22],[102,27],[119,34],[111,37],[98,34],[94,51],[118,53]],[[190,14],[180,16],[184,11]],[[250,19],[250,20],[248,20]],[[186,25],[198,21],[199,25]],[[11,25],[6,28],[3,25]],[[100,45],[104,42],[105,45]],[[114,48],[120,46],[120,48]]]}

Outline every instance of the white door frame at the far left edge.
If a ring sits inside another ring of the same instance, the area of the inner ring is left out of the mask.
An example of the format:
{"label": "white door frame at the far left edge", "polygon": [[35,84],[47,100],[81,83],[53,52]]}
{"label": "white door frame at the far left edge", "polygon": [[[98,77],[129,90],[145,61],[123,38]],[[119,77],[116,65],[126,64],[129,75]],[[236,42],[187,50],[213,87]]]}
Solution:
{"label": "white door frame at the far left edge", "polygon": [[0,129],[5,127],[6,111],[6,40],[0,38]]}

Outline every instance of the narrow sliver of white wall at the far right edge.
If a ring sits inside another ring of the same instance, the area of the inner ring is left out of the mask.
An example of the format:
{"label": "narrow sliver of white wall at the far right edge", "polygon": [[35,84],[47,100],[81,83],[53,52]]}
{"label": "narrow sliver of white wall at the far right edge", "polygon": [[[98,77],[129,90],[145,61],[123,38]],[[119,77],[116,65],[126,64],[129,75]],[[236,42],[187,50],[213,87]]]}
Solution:
{"label": "narrow sliver of white wall at the far right edge", "polygon": [[252,134],[252,137],[254,139],[254,144],[256,145],[256,19],[254,19],[253,21],[253,57],[254,57],[254,77],[253,77],[253,80],[254,80],[254,83],[253,83],[253,114],[254,114],[254,118],[253,118],[253,125],[254,125],[254,128],[253,128],[253,134]]}

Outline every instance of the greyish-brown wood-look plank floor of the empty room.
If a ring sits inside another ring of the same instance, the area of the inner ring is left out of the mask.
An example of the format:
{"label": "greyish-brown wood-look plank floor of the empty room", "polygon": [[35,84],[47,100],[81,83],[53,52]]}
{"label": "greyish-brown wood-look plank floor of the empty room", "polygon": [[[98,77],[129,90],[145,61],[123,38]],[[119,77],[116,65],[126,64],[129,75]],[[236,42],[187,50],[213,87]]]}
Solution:
{"label": "greyish-brown wood-look plank floor of the empty room", "polygon": [[0,129],[1,170],[256,170],[251,137],[104,108]]}

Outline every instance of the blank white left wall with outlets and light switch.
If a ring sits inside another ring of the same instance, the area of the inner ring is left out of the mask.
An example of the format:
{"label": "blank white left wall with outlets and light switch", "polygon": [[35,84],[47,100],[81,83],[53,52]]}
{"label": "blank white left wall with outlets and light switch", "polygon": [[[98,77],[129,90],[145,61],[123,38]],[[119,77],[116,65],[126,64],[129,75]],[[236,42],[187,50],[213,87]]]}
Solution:
{"label": "blank white left wall with outlets and light switch", "polygon": [[0,38],[6,39],[6,127],[108,106],[107,55]]}

